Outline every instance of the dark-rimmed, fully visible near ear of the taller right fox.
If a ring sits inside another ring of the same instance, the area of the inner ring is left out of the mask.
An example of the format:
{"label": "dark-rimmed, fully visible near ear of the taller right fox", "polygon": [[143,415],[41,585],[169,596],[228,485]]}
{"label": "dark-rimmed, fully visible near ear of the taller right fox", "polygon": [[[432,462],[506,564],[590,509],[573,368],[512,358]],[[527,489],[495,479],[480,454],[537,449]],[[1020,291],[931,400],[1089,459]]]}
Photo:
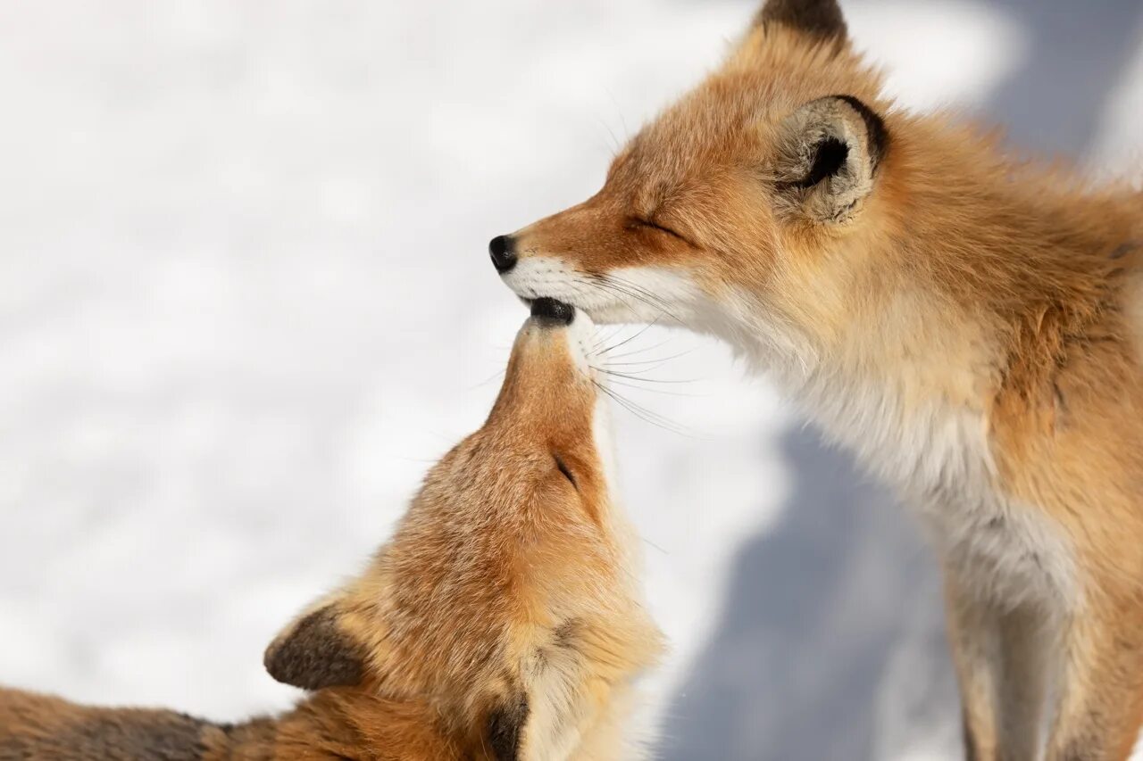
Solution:
{"label": "dark-rimmed, fully visible near ear of the taller right fox", "polygon": [[780,210],[846,222],[873,190],[888,141],[881,118],[850,95],[801,106],[778,126],[773,179]]}

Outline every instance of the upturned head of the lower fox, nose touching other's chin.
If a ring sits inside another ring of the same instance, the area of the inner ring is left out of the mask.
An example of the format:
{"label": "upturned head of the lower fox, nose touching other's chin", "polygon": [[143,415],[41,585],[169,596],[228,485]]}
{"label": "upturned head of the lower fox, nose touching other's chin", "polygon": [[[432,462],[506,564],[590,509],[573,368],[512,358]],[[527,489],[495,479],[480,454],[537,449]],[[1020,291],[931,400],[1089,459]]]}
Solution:
{"label": "upturned head of the lower fox, nose touching other's chin", "polygon": [[591,336],[585,314],[534,304],[483,427],[365,571],[274,640],[271,675],[422,705],[455,758],[613,758],[661,640],[610,490]]}

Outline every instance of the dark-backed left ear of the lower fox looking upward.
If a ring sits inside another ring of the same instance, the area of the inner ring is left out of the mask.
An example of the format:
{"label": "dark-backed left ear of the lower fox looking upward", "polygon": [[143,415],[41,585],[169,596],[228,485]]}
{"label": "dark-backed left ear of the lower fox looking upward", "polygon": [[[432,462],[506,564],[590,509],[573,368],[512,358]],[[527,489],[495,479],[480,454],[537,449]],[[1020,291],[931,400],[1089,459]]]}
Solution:
{"label": "dark-backed left ear of the lower fox looking upward", "polygon": [[365,654],[337,628],[331,607],[315,610],[266,649],[266,671],[279,682],[320,690],[361,682]]}

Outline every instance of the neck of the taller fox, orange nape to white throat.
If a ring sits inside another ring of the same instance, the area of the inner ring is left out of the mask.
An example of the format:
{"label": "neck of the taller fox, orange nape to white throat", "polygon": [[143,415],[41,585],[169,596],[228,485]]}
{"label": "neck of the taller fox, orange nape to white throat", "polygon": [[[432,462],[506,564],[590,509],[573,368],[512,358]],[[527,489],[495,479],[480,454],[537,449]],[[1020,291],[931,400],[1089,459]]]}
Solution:
{"label": "neck of the taller fox, orange nape to white throat", "polygon": [[[845,286],[807,283],[809,299],[796,287],[793,302],[748,285],[695,319],[906,498],[977,503],[998,488],[997,399],[1021,386],[1044,401],[1050,383],[1036,373],[1106,312],[1122,264],[1109,253],[1138,231],[1129,195],[1085,195],[1065,176],[1006,165],[983,138],[913,127],[901,131],[917,144],[890,150],[868,232],[840,245],[855,262]],[[831,304],[831,293],[850,295]]]}

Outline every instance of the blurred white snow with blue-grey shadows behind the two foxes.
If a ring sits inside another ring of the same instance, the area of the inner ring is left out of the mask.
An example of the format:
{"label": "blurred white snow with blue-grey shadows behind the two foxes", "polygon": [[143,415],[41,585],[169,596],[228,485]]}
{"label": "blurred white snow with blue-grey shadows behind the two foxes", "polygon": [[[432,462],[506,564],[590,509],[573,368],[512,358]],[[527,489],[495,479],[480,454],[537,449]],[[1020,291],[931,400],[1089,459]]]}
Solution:
{"label": "blurred white snow with blue-grey shadows behind the two foxes", "polygon": [[[852,0],[909,105],[1143,167],[1137,0]],[[486,242],[600,184],[746,0],[0,8],[0,682],[216,719],[477,427],[523,311]],[[658,345],[665,342],[663,345]],[[620,414],[673,642],[662,758],[952,759],[906,513],[722,347]]]}

